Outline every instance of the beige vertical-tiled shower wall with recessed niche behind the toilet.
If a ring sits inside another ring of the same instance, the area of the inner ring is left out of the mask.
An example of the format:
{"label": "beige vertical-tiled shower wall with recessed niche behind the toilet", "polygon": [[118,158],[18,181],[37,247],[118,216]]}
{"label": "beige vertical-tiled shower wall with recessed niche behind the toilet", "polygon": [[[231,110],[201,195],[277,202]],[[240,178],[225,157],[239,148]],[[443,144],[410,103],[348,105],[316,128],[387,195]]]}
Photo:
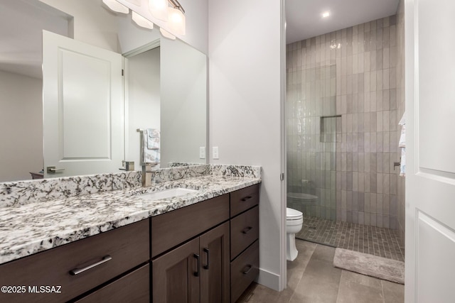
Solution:
{"label": "beige vertical-tiled shower wall with recessed niche behind the toilet", "polygon": [[288,206],[306,216],[404,226],[394,167],[404,112],[397,19],[287,45],[287,192],[318,197]]}

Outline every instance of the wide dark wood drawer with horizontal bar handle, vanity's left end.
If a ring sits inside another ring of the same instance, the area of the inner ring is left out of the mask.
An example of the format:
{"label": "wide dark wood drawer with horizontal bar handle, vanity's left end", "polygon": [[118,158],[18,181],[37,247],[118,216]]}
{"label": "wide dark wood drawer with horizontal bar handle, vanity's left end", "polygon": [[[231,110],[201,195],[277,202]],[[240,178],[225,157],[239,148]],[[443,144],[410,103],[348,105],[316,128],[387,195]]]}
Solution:
{"label": "wide dark wood drawer with horizontal bar handle, vanity's left end", "polygon": [[[146,263],[149,241],[149,220],[143,220],[0,265],[0,285],[27,288],[25,294],[0,293],[0,302],[65,302]],[[30,292],[34,286],[60,286],[60,293]]]}

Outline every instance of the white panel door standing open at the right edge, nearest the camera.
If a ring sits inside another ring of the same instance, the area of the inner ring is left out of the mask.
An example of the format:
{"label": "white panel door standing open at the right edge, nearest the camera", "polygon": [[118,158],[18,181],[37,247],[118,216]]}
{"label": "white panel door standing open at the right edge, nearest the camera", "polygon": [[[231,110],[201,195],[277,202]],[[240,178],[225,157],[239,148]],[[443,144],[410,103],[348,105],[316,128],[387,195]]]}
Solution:
{"label": "white panel door standing open at the right edge, nearest the camera", "polygon": [[454,13],[405,1],[406,302],[455,302]]}

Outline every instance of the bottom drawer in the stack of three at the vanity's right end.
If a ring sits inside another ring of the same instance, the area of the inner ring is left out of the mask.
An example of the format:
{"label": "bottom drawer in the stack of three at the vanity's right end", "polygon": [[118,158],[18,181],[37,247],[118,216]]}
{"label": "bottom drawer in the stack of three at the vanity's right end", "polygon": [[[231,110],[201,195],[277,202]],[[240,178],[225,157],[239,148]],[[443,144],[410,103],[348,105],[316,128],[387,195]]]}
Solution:
{"label": "bottom drawer in the stack of three at the vanity's right end", "polygon": [[230,302],[235,302],[259,275],[259,241],[230,263]]}

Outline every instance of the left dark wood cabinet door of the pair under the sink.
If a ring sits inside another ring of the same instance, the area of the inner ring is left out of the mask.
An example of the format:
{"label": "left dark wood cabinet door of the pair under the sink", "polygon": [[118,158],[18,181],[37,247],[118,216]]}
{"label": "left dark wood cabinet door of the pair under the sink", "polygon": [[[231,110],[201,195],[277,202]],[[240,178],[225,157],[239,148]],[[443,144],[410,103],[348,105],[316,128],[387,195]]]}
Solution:
{"label": "left dark wood cabinet door of the pair under the sink", "polygon": [[199,238],[152,261],[153,302],[199,302]]}

